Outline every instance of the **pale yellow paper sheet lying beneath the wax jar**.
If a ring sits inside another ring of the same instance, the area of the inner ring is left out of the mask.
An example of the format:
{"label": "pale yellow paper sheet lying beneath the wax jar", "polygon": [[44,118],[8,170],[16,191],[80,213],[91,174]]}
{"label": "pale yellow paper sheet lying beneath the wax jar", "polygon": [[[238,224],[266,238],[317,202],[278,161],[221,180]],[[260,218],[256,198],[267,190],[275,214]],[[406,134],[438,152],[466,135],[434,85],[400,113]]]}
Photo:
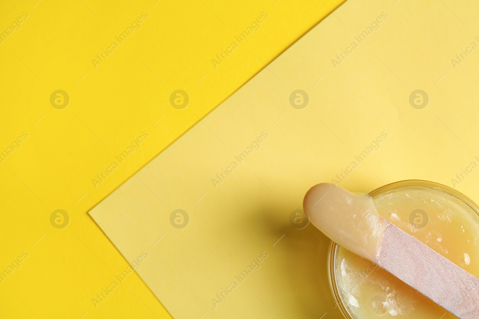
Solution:
{"label": "pale yellow paper sheet lying beneath the wax jar", "polygon": [[[331,59],[382,12],[380,28],[334,67]],[[340,184],[351,191],[424,179],[478,201],[476,171],[452,184],[479,163],[479,53],[451,62],[479,44],[475,12],[472,2],[348,0],[91,216],[127,260],[149,253],[138,274],[176,318],[339,318],[329,241],[312,225],[293,228],[290,214],[309,187],[337,179],[353,161]],[[296,89],[308,93],[305,109],[289,104]],[[422,110],[409,102],[416,89],[429,96]],[[260,149],[214,187],[212,178],[261,132],[268,137]],[[382,132],[379,148],[355,159]],[[186,228],[171,226],[175,209],[189,214]],[[261,268],[214,307],[212,298],[262,251],[269,256]]]}

